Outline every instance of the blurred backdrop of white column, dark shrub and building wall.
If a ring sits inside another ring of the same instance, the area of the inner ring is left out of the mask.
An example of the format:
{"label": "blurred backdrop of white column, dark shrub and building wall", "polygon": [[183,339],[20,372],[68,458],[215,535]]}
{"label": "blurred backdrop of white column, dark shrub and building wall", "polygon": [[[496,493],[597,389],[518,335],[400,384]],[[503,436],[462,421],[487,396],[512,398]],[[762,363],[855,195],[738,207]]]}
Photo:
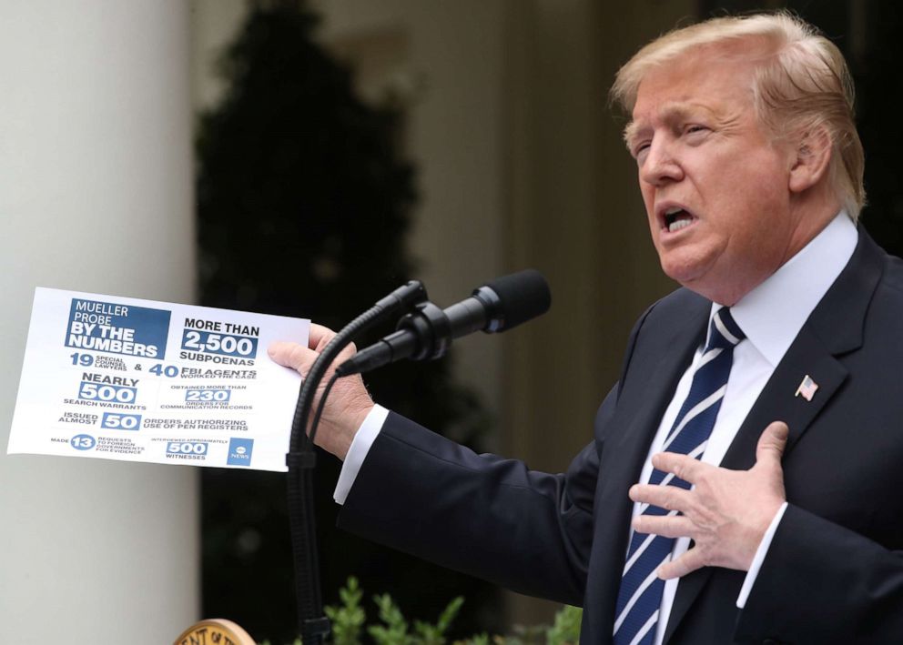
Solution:
{"label": "blurred backdrop of white column, dark shrub and building wall", "polygon": [[[447,306],[535,267],[549,314],[368,385],[474,448],[566,468],[634,319],[674,287],[607,103],[614,73],[675,25],[784,6],[847,55],[863,222],[899,255],[889,0],[0,0],[0,418],[36,286],[340,327],[411,278]],[[462,634],[550,619],[332,529],[338,469],[320,459],[327,602],[356,575],[415,618],[464,595]],[[0,640],[171,642],[222,616],[288,641],[284,488],[272,473],[0,456]]]}

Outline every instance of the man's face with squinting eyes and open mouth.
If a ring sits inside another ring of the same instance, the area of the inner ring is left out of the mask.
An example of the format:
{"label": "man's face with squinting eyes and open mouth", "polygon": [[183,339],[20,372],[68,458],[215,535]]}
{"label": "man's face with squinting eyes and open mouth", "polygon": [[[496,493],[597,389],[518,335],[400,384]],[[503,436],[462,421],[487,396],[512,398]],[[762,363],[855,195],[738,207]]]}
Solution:
{"label": "man's face with squinting eyes and open mouth", "polygon": [[756,117],[752,64],[724,54],[700,48],[644,76],[627,142],[665,274],[733,305],[808,238],[792,150]]}

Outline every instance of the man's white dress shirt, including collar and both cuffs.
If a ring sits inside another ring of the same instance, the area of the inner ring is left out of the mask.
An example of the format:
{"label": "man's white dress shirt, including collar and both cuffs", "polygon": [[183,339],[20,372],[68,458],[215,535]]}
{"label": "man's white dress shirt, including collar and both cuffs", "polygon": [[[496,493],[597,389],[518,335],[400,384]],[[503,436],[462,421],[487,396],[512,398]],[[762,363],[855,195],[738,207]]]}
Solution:
{"label": "man's white dress shirt, including collar and both cuffs", "polygon": [[[841,211],[796,256],[790,258],[765,282],[746,294],[734,307],[731,307],[731,314],[736,324],[743,329],[746,339],[740,341],[734,349],[734,364],[731,368],[730,378],[727,380],[725,397],[721,402],[721,409],[718,411],[715,427],[708,439],[702,461],[719,464],[724,459],[727,448],[730,447],[737,430],[756,402],[756,398],[765,388],[781,358],[784,358],[787,349],[790,348],[809,314],[825,296],[827,289],[834,284],[843,268],[847,266],[856,244],[856,226],[847,217],[847,214]],[[720,307],[713,303],[712,314]],[[696,349],[693,362],[677,384],[674,398],[666,408],[665,416],[662,417],[661,424],[649,448],[649,454],[640,475],[641,482],[648,482],[652,475],[652,456],[662,451],[668,430],[674,425],[675,417],[690,391],[695,367],[702,357],[704,348],[705,342]],[[379,405],[373,408],[352,440],[335,489],[334,499],[339,504],[344,503],[348,496],[360,466],[366,459],[373,441],[379,435],[388,414],[389,411]],[[768,546],[771,544],[771,539],[785,509],[786,503],[778,510],[765,538],[756,551],[756,557],[746,574],[736,601],[737,607],[741,609],[746,604],[746,598],[752,590],[758,570],[765,559]],[[640,512],[641,505],[634,504],[634,517]],[[689,543],[690,539],[688,538],[676,539],[673,559],[684,553],[689,547]],[[665,636],[665,627],[671,614],[679,581],[680,579],[671,579],[665,582],[659,613],[660,620],[655,633],[655,645],[661,645]]]}

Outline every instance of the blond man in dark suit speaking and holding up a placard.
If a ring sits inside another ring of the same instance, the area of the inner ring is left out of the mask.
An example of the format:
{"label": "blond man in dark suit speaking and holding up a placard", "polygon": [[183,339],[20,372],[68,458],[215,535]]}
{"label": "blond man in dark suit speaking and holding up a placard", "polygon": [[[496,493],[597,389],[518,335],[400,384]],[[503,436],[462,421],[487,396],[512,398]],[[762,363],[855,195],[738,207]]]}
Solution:
{"label": "blond man in dark suit speaking and holding up a placard", "polygon": [[[584,642],[903,642],[903,267],[855,224],[849,87],[788,15],[644,47],[613,93],[684,288],[634,327],[594,441],[534,472],[346,379],[318,434],[340,525],[581,605]],[[270,356],[303,374],[330,338]]]}

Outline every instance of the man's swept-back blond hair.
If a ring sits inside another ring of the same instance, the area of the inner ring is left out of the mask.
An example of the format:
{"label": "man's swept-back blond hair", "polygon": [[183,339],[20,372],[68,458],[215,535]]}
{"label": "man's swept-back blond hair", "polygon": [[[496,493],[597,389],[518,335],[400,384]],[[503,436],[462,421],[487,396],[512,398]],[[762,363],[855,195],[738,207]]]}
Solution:
{"label": "man's swept-back blond hair", "polygon": [[644,76],[689,50],[753,41],[766,45],[753,80],[756,114],[775,136],[824,128],[831,137],[831,185],[855,221],[865,204],[865,154],[853,114],[853,81],[837,46],[786,12],[713,18],[645,45],[618,71],[612,100],[629,113]]}

